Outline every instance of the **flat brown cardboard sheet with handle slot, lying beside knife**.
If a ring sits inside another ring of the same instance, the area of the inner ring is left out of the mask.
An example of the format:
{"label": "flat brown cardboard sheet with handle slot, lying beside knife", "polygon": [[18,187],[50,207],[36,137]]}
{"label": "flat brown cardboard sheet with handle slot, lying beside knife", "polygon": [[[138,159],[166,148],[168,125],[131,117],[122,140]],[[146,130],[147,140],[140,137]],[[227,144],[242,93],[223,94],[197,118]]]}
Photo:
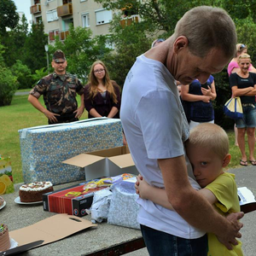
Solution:
{"label": "flat brown cardboard sheet with handle slot, lying beside knife", "polygon": [[9,236],[18,242],[18,247],[2,253],[3,255],[21,253],[31,249],[33,244],[33,247],[45,245],[93,226],[96,226],[96,224],[91,224],[89,220],[84,218],[67,214],[56,214],[20,230],[10,231]]}

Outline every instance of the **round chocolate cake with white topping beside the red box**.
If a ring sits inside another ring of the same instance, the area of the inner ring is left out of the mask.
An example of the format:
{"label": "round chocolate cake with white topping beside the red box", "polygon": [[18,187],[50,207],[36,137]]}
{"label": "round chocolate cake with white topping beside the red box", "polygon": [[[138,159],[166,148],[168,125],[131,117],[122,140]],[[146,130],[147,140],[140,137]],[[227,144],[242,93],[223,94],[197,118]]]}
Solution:
{"label": "round chocolate cake with white topping beside the red box", "polygon": [[20,186],[19,195],[21,202],[43,201],[43,194],[53,191],[52,183],[36,182]]}

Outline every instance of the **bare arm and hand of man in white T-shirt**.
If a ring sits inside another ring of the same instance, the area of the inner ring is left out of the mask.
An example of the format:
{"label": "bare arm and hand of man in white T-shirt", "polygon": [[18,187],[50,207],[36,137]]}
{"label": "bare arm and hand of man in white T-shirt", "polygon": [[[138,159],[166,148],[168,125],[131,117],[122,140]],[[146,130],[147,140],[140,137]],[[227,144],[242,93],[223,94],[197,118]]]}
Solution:
{"label": "bare arm and hand of man in white T-shirt", "polygon": [[168,201],[175,211],[189,224],[215,234],[219,241],[232,249],[231,244],[237,244],[236,237],[241,237],[242,224],[237,219],[242,218],[243,213],[232,213],[224,218],[214,211],[211,204],[191,187],[183,156],[158,160],[158,164]]}

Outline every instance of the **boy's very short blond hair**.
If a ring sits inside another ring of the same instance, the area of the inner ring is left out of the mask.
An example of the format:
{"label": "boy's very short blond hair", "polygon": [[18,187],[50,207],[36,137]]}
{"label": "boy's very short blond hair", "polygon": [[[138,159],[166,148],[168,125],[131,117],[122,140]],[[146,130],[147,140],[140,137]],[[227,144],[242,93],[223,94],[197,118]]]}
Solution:
{"label": "boy's very short blond hair", "polygon": [[217,154],[220,159],[224,159],[230,150],[227,133],[220,126],[211,123],[201,123],[195,126],[189,132],[189,140],[186,143],[203,148],[207,147]]}

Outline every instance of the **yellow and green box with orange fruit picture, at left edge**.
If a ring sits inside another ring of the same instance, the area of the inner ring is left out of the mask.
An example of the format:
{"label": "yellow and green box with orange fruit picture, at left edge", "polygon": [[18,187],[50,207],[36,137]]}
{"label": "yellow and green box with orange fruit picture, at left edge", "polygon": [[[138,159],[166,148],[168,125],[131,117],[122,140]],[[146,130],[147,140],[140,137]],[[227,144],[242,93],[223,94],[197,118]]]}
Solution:
{"label": "yellow and green box with orange fruit picture, at left edge", "polygon": [[15,192],[10,157],[0,158],[0,195]]}

